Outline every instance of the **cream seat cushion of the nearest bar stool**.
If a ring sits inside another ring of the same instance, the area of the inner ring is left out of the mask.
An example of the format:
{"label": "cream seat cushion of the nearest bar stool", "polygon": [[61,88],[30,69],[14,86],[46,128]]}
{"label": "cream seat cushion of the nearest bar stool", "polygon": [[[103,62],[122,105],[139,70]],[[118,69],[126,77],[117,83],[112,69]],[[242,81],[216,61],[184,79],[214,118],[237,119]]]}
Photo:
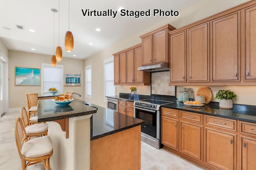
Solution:
{"label": "cream seat cushion of the nearest bar stool", "polygon": [[52,152],[52,140],[48,135],[30,139],[24,143],[21,152],[26,158],[37,158],[48,155]]}

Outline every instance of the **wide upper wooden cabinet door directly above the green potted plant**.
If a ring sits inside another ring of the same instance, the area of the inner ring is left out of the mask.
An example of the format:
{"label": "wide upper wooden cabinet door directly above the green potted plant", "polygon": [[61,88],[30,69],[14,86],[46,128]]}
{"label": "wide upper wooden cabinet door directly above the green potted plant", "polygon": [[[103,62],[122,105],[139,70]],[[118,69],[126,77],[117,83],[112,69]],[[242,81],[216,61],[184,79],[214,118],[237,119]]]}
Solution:
{"label": "wide upper wooden cabinet door directly above the green potted plant", "polygon": [[240,80],[239,14],[212,21],[212,81]]}

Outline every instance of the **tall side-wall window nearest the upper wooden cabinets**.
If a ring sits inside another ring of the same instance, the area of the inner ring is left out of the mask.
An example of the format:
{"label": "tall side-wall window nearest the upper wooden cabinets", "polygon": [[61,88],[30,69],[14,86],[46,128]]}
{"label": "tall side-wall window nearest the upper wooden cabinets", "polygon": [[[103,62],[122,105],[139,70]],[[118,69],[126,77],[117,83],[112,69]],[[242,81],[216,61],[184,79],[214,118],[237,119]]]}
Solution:
{"label": "tall side-wall window nearest the upper wooden cabinets", "polygon": [[105,96],[115,96],[116,87],[114,86],[114,61],[113,58],[104,60],[104,101]]}

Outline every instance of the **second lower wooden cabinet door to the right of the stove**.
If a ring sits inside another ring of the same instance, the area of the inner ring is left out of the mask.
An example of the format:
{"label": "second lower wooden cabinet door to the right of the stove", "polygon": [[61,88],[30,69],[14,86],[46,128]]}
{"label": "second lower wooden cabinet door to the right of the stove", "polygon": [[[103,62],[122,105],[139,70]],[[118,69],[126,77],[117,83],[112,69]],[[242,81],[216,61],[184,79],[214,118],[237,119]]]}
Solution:
{"label": "second lower wooden cabinet door to the right of the stove", "polygon": [[202,133],[203,126],[187,122],[180,122],[181,126],[181,152],[198,160],[202,160]]}

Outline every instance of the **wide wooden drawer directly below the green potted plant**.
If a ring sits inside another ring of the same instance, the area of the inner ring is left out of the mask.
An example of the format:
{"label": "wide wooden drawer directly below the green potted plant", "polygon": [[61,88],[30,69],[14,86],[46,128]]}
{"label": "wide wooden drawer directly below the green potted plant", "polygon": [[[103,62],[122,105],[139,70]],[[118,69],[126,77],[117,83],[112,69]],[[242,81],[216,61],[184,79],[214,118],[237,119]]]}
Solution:
{"label": "wide wooden drawer directly below the green potted plant", "polygon": [[205,116],[205,125],[236,131],[236,124],[237,124],[236,120],[226,119],[226,118],[216,117],[216,116],[209,116],[209,115],[204,115],[204,116]]}

